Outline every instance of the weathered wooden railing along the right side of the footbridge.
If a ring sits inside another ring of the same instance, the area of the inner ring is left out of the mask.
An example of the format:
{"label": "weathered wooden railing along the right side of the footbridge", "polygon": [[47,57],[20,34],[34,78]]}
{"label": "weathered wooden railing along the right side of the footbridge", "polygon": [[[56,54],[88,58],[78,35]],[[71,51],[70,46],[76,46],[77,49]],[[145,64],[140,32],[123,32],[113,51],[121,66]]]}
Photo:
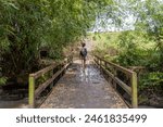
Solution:
{"label": "weathered wooden railing along the right side of the footbridge", "polygon": [[[138,107],[138,97],[137,97],[137,74],[134,71],[130,71],[128,68],[125,68],[123,66],[120,66],[115,63],[109,62],[104,59],[101,59],[98,55],[95,55],[98,60],[100,60],[100,63],[97,64],[105,71],[105,73],[113,79],[115,84],[117,84],[120,87],[122,87],[130,97],[131,97],[131,107]],[[95,60],[96,61],[96,60]],[[96,61],[97,62],[97,61]],[[101,64],[101,62],[104,62],[105,66]],[[121,80],[116,73],[112,73],[109,69],[106,69],[106,64],[110,64],[112,67],[114,67],[115,71],[121,71],[122,73],[128,75],[130,77],[130,86],[126,85],[123,80]],[[115,85],[116,86],[116,85]],[[115,87],[116,88],[116,87]],[[130,105],[130,104],[128,104]]]}

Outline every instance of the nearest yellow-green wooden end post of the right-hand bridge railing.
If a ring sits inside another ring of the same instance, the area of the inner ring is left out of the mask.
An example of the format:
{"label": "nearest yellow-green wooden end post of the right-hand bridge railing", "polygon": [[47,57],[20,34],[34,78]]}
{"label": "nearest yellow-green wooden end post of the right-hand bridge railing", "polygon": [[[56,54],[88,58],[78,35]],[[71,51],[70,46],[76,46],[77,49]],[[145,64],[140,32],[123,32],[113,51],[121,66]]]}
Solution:
{"label": "nearest yellow-green wooden end post of the right-hand bridge railing", "polygon": [[137,74],[135,72],[131,75],[131,106],[138,107]]}

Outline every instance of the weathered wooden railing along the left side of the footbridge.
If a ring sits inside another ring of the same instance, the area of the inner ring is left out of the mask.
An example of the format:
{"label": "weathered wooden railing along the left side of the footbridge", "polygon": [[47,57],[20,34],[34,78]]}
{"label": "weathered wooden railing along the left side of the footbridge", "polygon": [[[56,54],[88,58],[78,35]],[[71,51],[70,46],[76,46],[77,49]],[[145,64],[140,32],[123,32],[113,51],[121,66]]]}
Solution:
{"label": "weathered wooden railing along the left side of the footbridge", "polygon": [[[41,71],[38,71],[34,74],[29,74],[29,88],[28,88],[28,104],[29,107],[36,107],[36,98],[51,84],[53,84],[53,80],[57,79],[61,74],[64,73],[64,71],[67,68],[67,66],[72,63],[73,56],[66,58],[66,60],[60,64],[53,64],[50,65]],[[59,67],[60,66],[60,67]],[[59,67],[57,71],[55,68]],[[40,78],[41,76],[46,75],[47,73],[50,73],[50,76],[48,79],[37,85],[36,88],[36,80]]]}

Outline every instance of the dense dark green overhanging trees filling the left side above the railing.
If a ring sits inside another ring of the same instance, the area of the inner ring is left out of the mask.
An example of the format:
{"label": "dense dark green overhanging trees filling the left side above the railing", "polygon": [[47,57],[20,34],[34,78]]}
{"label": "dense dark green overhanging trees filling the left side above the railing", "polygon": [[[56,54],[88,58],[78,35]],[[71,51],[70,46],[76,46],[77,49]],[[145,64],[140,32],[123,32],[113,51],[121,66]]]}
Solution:
{"label": "dense dark green overhanging trees filling the left side above the railing", "polygon": [[38,69],[39,49],[63,58],[112,0],[0,0],[0,82]]}

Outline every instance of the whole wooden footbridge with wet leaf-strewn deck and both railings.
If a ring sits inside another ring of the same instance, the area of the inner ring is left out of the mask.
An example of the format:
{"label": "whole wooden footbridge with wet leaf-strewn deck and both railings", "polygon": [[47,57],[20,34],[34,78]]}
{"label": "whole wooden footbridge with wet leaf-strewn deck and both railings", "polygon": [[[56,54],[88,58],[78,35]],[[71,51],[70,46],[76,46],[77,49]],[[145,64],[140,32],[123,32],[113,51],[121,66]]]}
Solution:
{"label": "whole wooden footbridge with wet leaf-strewn deck and both railings", "polygon": [[[46,96],[45,96],[46,94]],[[137,74],[99,56],[87,62],[67,58],[29,75],[29,107],[137,107]]]}

